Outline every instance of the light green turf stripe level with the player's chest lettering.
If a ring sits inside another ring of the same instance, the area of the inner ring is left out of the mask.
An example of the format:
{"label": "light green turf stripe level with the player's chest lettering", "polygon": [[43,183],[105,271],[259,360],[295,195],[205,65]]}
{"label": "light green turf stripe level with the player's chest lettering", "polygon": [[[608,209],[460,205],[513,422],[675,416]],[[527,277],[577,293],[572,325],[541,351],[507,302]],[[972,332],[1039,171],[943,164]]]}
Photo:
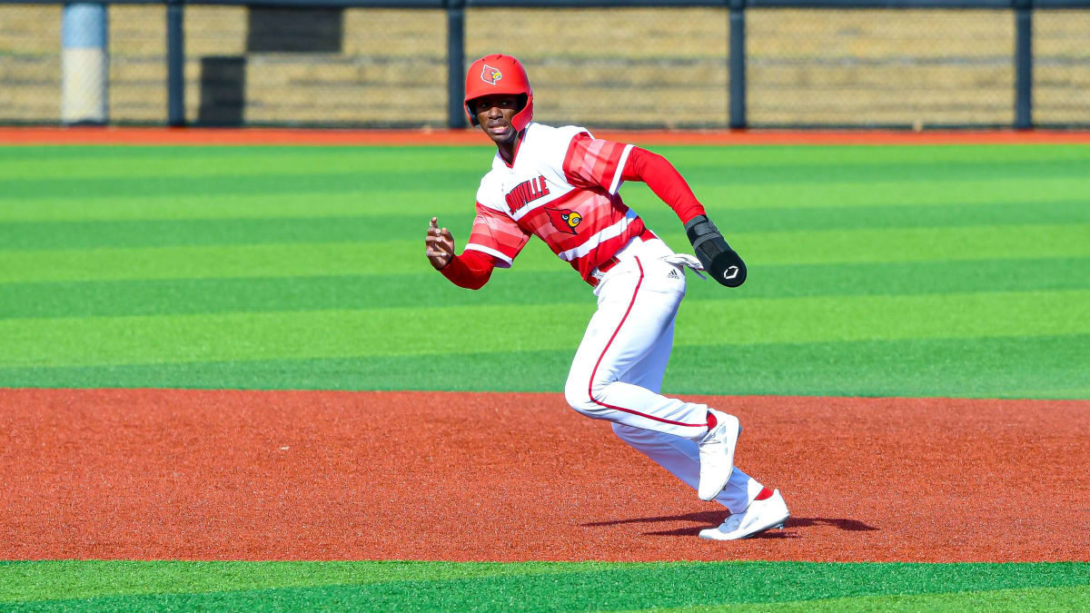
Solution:
{"label": "light green turf stripe level with the player's chest lettering", "polygon": [[[681,169],[685,171],[685,169]],[[0,221],[80,221],[145,219],[235,219],[279,217],[383,216],[391,212],[431,218],[433,215],[473,217],[473,200],[481,172],[459,185],[436,185],[421,178],[407,185],[379,188],[355,182],[356,189],[310,185],[305,192],[229,192],[216,194],[140,194],[104,196],[85,192],[74,196],[5,197],[0,193]],[[198,179],[194,179],[198,180]],[[990,206],[998,203],[1046,207],[1056,202],[1085,202],[1090,180],[1061,177],[1026,181],[994,180],[855,181],[823,184],[753,185],[743,181],[692,183],[712,214],[734,215],[751,208],[794,211],[829,207]],[[621,188],[625,202],[644,216],[666,212],[666,205],[642,183]],[[452,227],[453,228],[453,227]],[[724,226],[728,228],[728,226]],[[467,226],[467,230],[469,227]]]}

